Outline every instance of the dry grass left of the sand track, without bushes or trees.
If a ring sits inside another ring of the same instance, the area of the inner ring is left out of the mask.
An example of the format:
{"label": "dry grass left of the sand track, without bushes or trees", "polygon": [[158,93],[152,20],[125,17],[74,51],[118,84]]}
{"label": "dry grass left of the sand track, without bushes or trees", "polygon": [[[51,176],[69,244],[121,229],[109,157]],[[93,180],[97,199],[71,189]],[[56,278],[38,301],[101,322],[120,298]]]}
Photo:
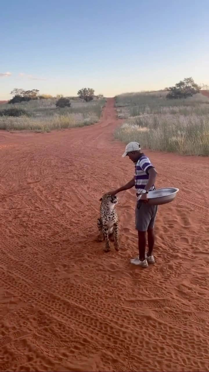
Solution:
{"label": "dry grass left of the sand track, without bushes or trees", "polygon": [[80,99],[71,101],[71,107],[58,109],[56,99],[40,99],[16,105],[1,105],[1,109],[18,107],[25,109],[30,117],[0,117],[0,129],[30,130],[49,132],[52,129],[73,128],[96,123],[101,115],[105,99],[84,102]]}

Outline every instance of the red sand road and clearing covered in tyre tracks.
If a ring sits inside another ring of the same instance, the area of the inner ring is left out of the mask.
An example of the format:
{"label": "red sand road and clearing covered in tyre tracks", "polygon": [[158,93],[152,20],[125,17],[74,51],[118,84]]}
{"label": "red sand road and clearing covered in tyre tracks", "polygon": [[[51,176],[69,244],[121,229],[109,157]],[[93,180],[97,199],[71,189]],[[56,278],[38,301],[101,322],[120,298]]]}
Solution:
{"label": "red sand road and clearing covered in tyre tracks", "polygon": [[97,243],[99,198],[133,165],[97,125],[0,132],[0,371],[209,371],[208,158],[147,151],[157,187],[156,264],[137,254],[134,190],[119,195],[119,253]]}

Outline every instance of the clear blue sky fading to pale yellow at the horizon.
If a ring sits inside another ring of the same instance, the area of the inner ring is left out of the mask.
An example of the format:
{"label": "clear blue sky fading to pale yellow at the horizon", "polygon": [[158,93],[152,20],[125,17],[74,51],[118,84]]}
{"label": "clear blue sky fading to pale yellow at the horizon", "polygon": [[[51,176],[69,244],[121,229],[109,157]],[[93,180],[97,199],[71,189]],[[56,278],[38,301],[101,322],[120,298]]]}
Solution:
{"label": "clear blue sky fading to pale yellow at the horizon", "polygon": [[208,0],[2,1],[0,100],[209,84],[208,14]]}

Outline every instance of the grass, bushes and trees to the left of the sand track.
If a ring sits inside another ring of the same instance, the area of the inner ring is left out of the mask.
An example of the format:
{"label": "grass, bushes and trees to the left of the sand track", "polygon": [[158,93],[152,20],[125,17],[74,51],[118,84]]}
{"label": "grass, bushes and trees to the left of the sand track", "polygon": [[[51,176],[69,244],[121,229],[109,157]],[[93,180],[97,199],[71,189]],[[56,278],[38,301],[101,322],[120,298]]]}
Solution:
{"label": "grass, bushes and trees to the left of the sand track", "polygon": [[[15,88],[12,99],[0,106],[0,129],[50,132],[52,129],[72,128],[96,123],[105,105],[102,95],[94,90],[78,91],[78,97],[52,97],[39,90]],[[81,94],[86,96],[81,96]]]}

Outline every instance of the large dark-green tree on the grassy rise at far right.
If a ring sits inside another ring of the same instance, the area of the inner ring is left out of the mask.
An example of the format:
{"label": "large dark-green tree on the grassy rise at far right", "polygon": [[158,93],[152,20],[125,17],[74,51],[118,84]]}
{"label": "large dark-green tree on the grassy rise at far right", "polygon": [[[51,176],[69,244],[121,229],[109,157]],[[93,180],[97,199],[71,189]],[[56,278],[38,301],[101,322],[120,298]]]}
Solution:
{"label": "large dark-green tree on the grassy rise at far right", "polygon": [[168,88],[167,98],[187,98],[192,97],[193,94],[199,93],[200,87],[194,83],[192,77],[186,77],[184,80],[180,80],[175,86]]}

